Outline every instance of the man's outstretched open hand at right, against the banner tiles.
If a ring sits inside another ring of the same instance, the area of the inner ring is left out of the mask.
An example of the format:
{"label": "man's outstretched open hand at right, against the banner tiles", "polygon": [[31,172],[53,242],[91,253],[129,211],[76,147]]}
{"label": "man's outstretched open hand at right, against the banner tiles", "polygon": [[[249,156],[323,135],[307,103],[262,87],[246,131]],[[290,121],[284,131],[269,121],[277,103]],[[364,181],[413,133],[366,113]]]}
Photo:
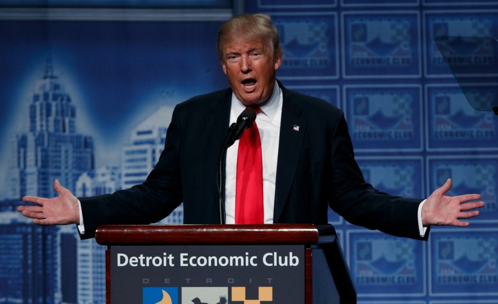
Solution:
{"label": "man's outstretched open hand at right, against the banner tiles", "polygon": [[[445,194],[451,189],[452,182],[448,179],[444,185],[434,191],[422,206],[422,224],[428,225],[452,225],[466,227],[468,221],[461,218],[471,218],[479,215],[479,210],[473,210],[484,206],[483,202],[469,202],[481,199],[478,194],[466,194],[456,197],[448,197]],[[472,211],[470,211],[472,210]]]}

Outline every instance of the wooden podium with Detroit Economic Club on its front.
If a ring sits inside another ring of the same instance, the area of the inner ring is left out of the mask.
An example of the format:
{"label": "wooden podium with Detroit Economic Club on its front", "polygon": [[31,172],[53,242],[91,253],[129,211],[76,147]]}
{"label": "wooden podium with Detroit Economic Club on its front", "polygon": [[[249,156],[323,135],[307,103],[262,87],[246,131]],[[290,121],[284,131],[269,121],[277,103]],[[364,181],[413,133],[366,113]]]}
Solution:
{"label": "wooden podium with Detroit Economic Club on its front", "polygon": [[[242,281],[243,285],[249,285],[250,289],[260,282],[255,279],[258,275],[263,276],[265,280],[267,277],[272,278],[267,279],[266,284],[259,284],[268,285],[266,288],[274,291],[273,298],[270,295],[266,300],[259,300],[263,303],[282,303],[278,297],[291,292],[302,294],[302,297],[292,298],[293,304],[356,303],[355,286],[332,225],[103,225],[97,229],[96,241],[108,246],[106,250],[108,304],[112,301],[117,303],[118,300],[113,299],[118,295],[129,297],[126,293],[136,295],[143,291],[145,297],[145,292],[149,291],[146,289],[148,286],[166,286],[164,289],[167,289],[168,286],[176,286],[176,282],[188,283],[191,286],[194,282],[192,280],[197,278],[203,278],[203,284],[216,286],[220,281],[213,279],[211,274],[218,274],[219,271],[230,271],[230,275],[225,276],[230,279],[228,281],[221,279],[221,282],[227,285],[227,290],[232,288],[231,293],[227,293],[226,296],[232,294],[233,297],[220,300],[219,303],[245,303],[245,300],[236,299],[234,295],[236,291],[234,288],[239,288],[237,291],[240,291],[241,287],[233,286],[241,285]],[[132,251],[128,253],[128,249],[133,249],[137,253]],[[191,250],[194,250],[194,253]],[[235,253],[231,253],[232,251]],[[237,265],[228,265],[229,261],[230,263],[235,261]],[[218,268],[214,268],[215,271],[208,271],[208,266]],[[302,267],[302,272],[299,267]],[[188,271],[188,276],[183,275],[182,279],[178,280],[170,278],[171,274],[183,270]],[[196,271],[201,273],[197,275]],[[206,271],[209,275],[206,275]],[[252,273],[249,273],[250,271]],[[297,271],[297,275],[292,274],[292,271]],[[149,272],[150,278],[153,276],[151,272],[158,273],[160,278],[150,279]],[[244,275],[245,272],[248,274]],[[283,276],[283,279],[273,278],[274,274]],[[236,276],[240,278],[241,275],[243,280],[232,279]],[[206,277],[208,279],[204,279]],[[278,289],[276,285],[282,280],[290,282],[283,283],[285,293],[282,293],[282,288]],[[131,292],[135,287],[126,284],[137,285],[138,292]],[[294,284],[298,287],[295,288]],[[150,290],[154,291],[153,288]],[[261,291],[260,289],[260,294]],[[269,299],[272,301],[268,301]],[[180,299],[177,301],[182,303]],[[253,301],[250,300],[248,303],[258,302]],[[174,301],[161,303],[174,303]]]}

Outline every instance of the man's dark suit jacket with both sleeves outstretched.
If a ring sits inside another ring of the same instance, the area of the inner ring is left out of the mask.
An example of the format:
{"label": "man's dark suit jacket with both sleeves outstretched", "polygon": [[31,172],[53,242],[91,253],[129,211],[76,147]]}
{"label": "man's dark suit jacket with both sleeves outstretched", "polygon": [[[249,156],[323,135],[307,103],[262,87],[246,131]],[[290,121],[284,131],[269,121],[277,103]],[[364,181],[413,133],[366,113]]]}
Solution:
{"label": "man's dark suit jacket with both sleeves outstretched", "polygon": [[[420,238],[417,208],[422,200],[392,197],[365,183],[343,112],[326,101],[280,87],[274,222],[326,224],[330,205],[353,224]],[[178,104],[164,151],[143,184],[80,199],[87,231],[82,238],[94,237],[100,224],[156,222],[181,202],[184,223],[219,223],[216,177],[231,98],[232,91],[226,89]]]}

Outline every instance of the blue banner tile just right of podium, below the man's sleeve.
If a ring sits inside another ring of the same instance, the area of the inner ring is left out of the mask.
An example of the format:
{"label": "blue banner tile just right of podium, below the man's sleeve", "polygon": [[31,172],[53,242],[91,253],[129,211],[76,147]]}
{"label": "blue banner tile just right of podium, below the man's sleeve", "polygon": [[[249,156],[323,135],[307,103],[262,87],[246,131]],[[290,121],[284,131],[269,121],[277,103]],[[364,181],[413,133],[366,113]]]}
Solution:
{"label": "blue banner tile just right of podium, below the man's sleeve", "polygon": [[349,230],[347,242],[348,263],[360,297],[426,294],[424,242],[363,230]]}

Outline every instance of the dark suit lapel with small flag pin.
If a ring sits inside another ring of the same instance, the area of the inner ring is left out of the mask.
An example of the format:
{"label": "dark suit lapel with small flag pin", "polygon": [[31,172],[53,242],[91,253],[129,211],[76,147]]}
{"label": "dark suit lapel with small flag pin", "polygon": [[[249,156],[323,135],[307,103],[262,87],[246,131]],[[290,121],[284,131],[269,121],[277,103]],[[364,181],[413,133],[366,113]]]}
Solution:
{"label": "dark suit lapel with small flag pin", "polygon": [[278,146],[273,222],[278,222],[289,195],[301,153],[306,121],[294,94],[282,88],[283,104]]}

